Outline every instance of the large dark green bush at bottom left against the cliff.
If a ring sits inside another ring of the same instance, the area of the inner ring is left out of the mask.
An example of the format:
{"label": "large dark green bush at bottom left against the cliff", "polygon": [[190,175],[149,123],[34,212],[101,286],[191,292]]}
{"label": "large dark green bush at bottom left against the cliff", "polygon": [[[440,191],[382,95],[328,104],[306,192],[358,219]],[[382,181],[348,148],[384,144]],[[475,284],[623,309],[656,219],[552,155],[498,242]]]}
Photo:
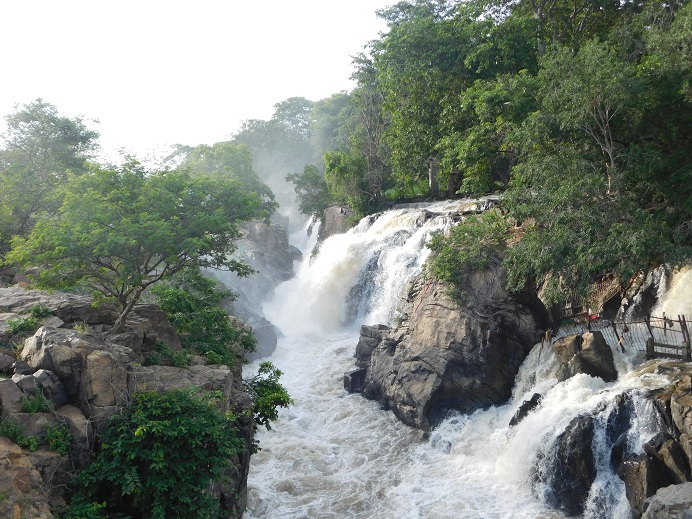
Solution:
{"label": "large dark green bush at bottom left against the cliff", "polygon": [[209,486],[244,442],[217,404],[193,389],[135,394],[106,425],[76,502],[106,502],[109,516],[222,517]]}

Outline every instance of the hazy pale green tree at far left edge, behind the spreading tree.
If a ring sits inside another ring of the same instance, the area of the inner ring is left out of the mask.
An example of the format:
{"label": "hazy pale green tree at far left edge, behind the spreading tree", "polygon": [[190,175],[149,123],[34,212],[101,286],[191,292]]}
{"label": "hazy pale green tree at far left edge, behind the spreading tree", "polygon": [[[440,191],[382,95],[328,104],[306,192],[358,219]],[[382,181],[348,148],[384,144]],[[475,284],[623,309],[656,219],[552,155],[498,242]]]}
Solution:
{"label": "hazy pale green tree at far left edge, behind the spreading tree", "polygon": [[57,186],[67,172],[84,170],[96,149],[98,133],[81,117],[60,115],[42,99],[5,118],[7,131],[0,150],[0,254],[12,236],[25,236],[39,213],[54,213],[60,206]]}

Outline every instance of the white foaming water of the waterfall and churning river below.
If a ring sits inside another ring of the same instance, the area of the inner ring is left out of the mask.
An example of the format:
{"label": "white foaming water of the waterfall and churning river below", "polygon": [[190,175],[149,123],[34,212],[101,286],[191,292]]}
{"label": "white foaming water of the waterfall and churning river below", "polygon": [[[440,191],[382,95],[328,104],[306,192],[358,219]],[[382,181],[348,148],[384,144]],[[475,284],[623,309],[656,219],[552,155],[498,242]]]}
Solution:
{"label": "white foaming water of the waterfall and churning river below", "polygon": [[[470,202],[427,206],[444,213]],[[391,412],[343,388],[354,367],[358,326],[391,324],[406,280],[427,256],[425,242],[450,225],[436,217],[419,225],[420,208],[397,209],[363,220],[333,236],[310,260],[304,243],[296,276],[265,304],[284,336],[270,360],[295,405],[282,410],[273,430],[258,432],[262,450],[252,457],[246,517],[362,519],[562,518],[532,483],[538,459],[549,460],[569,422],[601,409],[606,419],[615,395],[665,385],[633,373],[636,350],[616,354],[619,380],[607,384],[577,375],[556,383],[550,348],[534,347],[504,406],[452,415],[432,433],[400,423]],[[304,240],[303,240],[304,241]],[[256,366],[246,368],[252,373]],[[508,423],[533,393],[543,401],[516,427]],[[634,392],[627,444],[641,452],[653,435],[654,413]],[[598,477],[585,517],[629,519],[623,483],[609,468],[601,430],[594,440]],[[599,436],[600,435],[600,436]]]}

